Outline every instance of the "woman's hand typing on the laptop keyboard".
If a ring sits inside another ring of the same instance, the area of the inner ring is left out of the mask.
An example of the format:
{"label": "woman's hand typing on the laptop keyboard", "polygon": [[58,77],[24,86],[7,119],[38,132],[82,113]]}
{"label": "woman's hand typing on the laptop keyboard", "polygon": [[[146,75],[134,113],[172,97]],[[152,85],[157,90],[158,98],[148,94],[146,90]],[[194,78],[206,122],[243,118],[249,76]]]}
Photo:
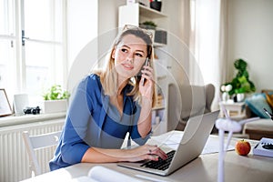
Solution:
{"label": "woman's hand typing on the laptop keyboard", "polygon": [[158,160],[158,157],[163,160],[167,159],[167,154],[157,146],[144,145],[133,149],[126,149],[124,158],[128,162],[137,162],[141,160]]}

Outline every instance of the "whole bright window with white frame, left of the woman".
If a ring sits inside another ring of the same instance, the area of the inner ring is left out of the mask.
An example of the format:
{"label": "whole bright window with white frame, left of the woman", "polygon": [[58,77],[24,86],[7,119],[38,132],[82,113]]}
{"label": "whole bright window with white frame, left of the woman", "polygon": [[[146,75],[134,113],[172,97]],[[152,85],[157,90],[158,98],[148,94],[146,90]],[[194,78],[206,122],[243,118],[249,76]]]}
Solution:
{"label": "whole bright window with white frame, left of the woman", "polygon": [[41,96],[53,84],[66,84],[64,2],[0,1],[0,87],[9,97]]}

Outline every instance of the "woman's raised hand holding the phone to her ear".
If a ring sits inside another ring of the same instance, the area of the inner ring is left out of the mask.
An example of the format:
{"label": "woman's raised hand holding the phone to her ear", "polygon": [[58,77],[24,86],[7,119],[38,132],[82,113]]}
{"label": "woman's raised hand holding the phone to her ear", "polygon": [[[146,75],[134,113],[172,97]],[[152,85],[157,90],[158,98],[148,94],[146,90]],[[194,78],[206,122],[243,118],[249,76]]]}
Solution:
{"label": "woman's raised hand holding the phone to her ear", "polygon": [[155,87],[154,70],[151,66],[143,66],[143,68],[141,70],[142,76],[139,83],[139,92],[142,96],[152,99]]}

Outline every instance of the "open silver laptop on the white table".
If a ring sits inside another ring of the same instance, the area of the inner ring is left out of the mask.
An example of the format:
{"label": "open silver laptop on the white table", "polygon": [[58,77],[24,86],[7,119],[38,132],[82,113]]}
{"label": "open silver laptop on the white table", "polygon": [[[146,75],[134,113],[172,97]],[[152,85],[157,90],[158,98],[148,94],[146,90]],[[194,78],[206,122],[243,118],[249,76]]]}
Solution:
{"label": "open silver laptop on the white table", "polygon": [[[219,110],[202,116],[190,117],[177,150],[172,150],[167,153],[167,160],[169,160],[169,162],[160,158],[158,160],[159,162],[145,160],[135,163],[123,162],[118,163],[117,165],[160,176],[167,176],[173,173],[178,168],[187,165],[187,163],[197,158],[202,153],[218,114]],[[167,152],[166,149],[163,150]]]}

